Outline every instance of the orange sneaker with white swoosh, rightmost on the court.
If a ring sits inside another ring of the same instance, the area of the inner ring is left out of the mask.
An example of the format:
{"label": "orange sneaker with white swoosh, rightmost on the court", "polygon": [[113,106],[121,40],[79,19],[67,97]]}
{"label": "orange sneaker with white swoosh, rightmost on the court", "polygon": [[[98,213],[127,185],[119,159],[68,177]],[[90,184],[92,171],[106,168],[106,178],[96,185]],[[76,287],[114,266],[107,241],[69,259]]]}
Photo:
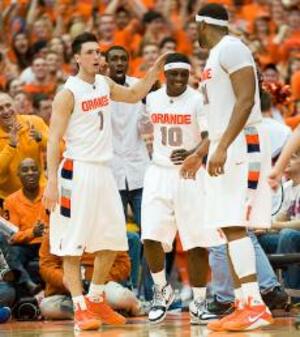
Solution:
{"label": "orange sneaker with white swoosh, rightmost on the court", "polygon": [[264,304],[253,304],[249,299],[248,305],[240,311],[232,321],[223,324],[227,331],[248,331],[273,324],[274,319],[269,308]]}

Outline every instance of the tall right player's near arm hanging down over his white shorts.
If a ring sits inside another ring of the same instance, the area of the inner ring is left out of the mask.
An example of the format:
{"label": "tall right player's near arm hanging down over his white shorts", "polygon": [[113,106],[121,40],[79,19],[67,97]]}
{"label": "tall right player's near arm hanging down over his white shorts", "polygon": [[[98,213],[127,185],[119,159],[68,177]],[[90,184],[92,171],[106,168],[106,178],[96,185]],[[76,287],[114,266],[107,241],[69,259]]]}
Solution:
{"label": "tall right player's near arm hanging down over his white shorts", "polygon": [[254,68],[248,66],[239,69],[230,75],[230,80],[236,103],[219,146],[209,160],[208,173],[211,176],[218,176],[224,173],[227,149],[243,130],[254,105],[256,89]]}

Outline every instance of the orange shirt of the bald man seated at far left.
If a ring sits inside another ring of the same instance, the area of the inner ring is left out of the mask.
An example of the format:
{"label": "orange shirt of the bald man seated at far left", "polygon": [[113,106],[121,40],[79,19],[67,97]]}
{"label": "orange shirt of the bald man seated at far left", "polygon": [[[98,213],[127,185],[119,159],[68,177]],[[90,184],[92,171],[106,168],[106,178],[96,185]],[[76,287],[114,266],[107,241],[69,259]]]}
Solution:
{"label": "orange shirt of the bald man seated at far left", "polygon": [[33,228],[38,221],[45,225],[49,223],[49,217],[42,204],[44,188],[40,188],[39,194],[34,201],[27,199],[22,189],[11,194],[5,199],[4,210],[10,222],[19,228],[13,235],[14,244],[34,244],[41,243],[41,237],[34,237]]}

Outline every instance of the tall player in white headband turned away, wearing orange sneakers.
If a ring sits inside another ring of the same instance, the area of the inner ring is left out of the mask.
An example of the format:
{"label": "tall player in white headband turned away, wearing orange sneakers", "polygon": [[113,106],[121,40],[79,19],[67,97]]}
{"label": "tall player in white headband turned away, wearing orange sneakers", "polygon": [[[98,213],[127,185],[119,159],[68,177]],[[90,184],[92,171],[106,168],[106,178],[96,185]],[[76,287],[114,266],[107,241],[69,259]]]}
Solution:
{"label": "tall player in white headband turned away, wearing orange sneakers", "polygon": [[[205,226],[222,228],[228,240],[239,303],[232,315],[208,327],[252,330],[273,322],[259,292],[254,247],[246,235],[248,226],[267,228],[271,224],[267,183],[271,150],[262,126],[256,65],[247,46],[228,35],[223,6],[202,7],[196,21],[199,43],[210,50],[201,79],[210,142]],[[183,176],[194,175],[205,152],[202,146],[185,160]]]}

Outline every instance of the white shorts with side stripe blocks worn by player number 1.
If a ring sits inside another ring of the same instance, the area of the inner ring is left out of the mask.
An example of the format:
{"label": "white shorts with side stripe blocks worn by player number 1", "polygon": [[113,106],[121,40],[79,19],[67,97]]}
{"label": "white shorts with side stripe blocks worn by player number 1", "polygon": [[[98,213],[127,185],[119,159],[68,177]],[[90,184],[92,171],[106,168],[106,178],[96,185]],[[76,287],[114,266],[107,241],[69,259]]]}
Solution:
{"label": "white shorts with side stripe blocks worn by player number 1", "polygon": [[128,250],[123,207],[109,167],[64,159],[58,182],[59,205],[50,217],[51,253]]}

